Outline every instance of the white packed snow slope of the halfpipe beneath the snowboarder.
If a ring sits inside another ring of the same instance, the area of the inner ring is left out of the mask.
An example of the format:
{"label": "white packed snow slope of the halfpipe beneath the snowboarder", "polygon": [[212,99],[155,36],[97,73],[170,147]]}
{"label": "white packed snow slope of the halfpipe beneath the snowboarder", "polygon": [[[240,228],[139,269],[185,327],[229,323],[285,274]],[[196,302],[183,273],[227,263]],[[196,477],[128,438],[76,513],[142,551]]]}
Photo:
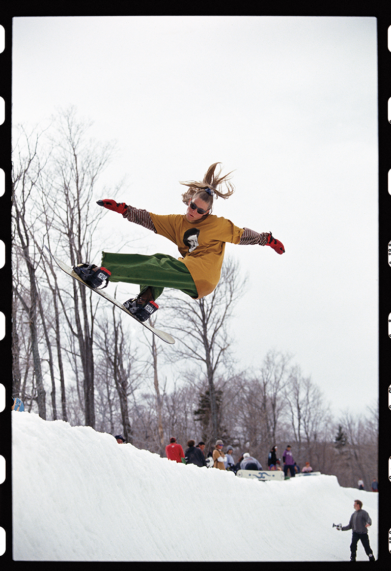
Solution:
{"label": "white packed snow slope of the halfpipe beneath the snowboarder", "polygon": [[[378,494],[342,488],[335,476],[260,482],[177,464],[90,427],[11,417],[16,561],[220,561],[222,552],[230,561],[348,561],[352,533],[332,525],[348,525],[356,498],[372,518],[377,558]],[[357,560],[368,561],[361,543]]]}

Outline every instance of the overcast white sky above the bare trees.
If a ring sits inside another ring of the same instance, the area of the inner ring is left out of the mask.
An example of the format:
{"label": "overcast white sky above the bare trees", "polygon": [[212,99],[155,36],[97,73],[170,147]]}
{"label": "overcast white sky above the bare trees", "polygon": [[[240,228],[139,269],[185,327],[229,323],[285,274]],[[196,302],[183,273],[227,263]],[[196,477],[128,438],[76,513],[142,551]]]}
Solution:
{"label": "overcast white sky above the bare trees", "polygon": [[[216,161],[235,170],[214,214],[286,250],[226,248],[248,274],[234,321],[242,367],[290,352],[334,412],[376,403],[376,18],[14,18],[13,123],[46,126],[71,105],[91,136],[117,142],[96,200],[184,212],[179,180]],[[107,251],[137,234],[111,223]],[[142,253],[179,255],[142,236]]]}

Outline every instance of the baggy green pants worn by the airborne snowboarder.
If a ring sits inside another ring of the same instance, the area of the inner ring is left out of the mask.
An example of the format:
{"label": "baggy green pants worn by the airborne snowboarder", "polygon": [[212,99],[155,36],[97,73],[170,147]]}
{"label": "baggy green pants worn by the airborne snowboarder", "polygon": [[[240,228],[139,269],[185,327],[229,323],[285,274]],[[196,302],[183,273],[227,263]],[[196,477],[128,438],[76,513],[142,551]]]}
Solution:
{"label": "baggy green pants worn by the airborne snowboarder", "polygon": [[102,252],[102,266],[110,270],[110,282],[139,284],[140,292],[150,287],[153,299],[165,287],[180,289],[197,299],[196,284],[185,264],[167,254],[113,254]]}

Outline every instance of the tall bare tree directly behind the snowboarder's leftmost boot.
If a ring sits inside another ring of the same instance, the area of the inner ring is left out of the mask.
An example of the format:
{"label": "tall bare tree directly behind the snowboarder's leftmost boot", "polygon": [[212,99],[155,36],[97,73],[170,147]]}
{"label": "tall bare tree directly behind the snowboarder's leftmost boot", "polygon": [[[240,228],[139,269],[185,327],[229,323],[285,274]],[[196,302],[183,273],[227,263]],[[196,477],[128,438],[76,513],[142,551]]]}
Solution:
{"label": "tall bare tree directly behind the snowboarder's leftmost boot", "polygon": [[[93,233],[101,213],[90,214],[93,190],[105,168],[111,144],[99,146],[86,139],[90,124],[78,120],[74,108],[62,112],[53,140],[53,172],[45,197],[45,212],[50,212],[51,228],[57,232],[67,251],[70,265],[91,259]],[[97,303],[92,293],[73,282],[73,320],[71,331],[77,337],[83,372],[85,424],[95,426],[93,337]]]}

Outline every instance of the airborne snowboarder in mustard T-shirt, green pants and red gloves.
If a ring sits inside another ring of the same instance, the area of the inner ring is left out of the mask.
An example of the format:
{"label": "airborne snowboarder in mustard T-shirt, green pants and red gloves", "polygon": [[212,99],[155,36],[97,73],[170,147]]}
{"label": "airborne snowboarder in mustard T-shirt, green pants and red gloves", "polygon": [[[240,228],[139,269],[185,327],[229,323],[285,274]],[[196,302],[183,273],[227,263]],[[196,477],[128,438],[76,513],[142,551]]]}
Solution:
{"label": "airborne snowboarder in mustard T-shirt, green pants and red gloves", "polygon": [[187,186],[182,194],[182,202],[187,204],[185,215],[157,215],[113,199],[98,201],[99,206],[118,212],[130,222],[177,244],[181,258],[166,254],[144,256],[103,252],[104,267],[79,264],[74,271],[95,288],[103,282],[107,285],[108,281],[138,284],[139,295],[123,305],[139,320],[145,321],[157,311],[155,300],[165,287],[180,289],[193,299],[212,293],[220,280],[226,242],[270,246],[277,254],[284,254],[284,246],[271,233],[260,234],[249,228],[239,228],[228,219],[212,215],[214,199],[219,196],[227,199],[234,192],[233,185],[228,182],[231,173],[221,176],[221,169],[215,173],[218,164],[208,168],[201,182],[181,182]]}

